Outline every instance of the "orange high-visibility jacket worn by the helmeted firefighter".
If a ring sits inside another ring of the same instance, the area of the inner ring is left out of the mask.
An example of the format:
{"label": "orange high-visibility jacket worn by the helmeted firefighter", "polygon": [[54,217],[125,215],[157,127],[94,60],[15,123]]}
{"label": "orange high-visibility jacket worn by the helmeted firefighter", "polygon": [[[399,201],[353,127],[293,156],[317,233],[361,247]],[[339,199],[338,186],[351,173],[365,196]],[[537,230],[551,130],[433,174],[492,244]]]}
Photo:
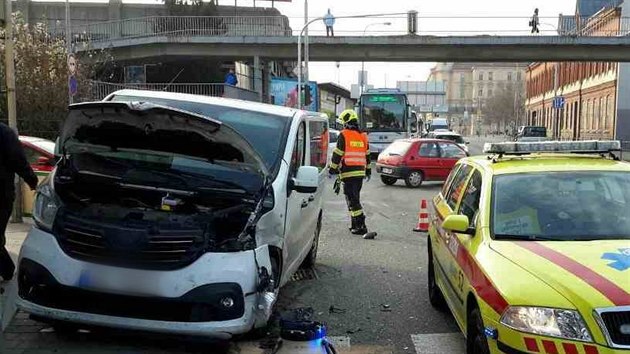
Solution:
{"label": "orange high-visibility jacket worn by the helmeted firefighter", "polygon": [[358,129],[344,129],[339,134],[330,168],[338,170],[341,179],[365,177],[370,166],[370,146],[367,134]]}

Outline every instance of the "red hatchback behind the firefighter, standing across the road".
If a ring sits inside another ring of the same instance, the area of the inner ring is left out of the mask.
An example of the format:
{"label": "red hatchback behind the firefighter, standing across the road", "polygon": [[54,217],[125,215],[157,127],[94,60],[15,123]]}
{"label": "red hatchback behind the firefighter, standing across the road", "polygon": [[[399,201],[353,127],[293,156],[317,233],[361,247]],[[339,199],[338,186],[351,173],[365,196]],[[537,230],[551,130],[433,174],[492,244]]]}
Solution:
{"label": "red hatchback behind the firefighter, standing across the road", "polygon": [[446,181],[455,163],[468,154],[450,140],[401,139],[383,151],[376,163],[381,181],[393,185],[402,179],[408,187],[424,181]]}

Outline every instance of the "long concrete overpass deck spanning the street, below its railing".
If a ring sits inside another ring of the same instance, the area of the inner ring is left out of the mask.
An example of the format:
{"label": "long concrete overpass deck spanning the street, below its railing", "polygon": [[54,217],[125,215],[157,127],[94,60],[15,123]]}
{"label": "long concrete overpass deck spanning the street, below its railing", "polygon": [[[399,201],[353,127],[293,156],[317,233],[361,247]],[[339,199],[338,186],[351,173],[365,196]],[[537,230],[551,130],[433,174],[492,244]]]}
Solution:
{"label": "long concrete overpass deck spanning the street, below its railing", "polygon": [[[295,36],[166,36],[93,41],[117,60],[155,57],[226,57],[295,60]],[[77,50],[86,47],[78,45]],[[372,36],[311,37],[312,61],[397,62],[630,62],[630,37],[572,36]]]}

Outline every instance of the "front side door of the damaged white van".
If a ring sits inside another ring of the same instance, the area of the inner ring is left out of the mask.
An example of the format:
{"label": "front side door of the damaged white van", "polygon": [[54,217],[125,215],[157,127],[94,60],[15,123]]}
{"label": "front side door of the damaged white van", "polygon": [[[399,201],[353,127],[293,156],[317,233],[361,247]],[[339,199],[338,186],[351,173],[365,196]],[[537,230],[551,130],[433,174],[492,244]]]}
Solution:
{"label": "front side door of the damaged white van", "polygon": [[289,143],[293,142],[293,152],[289,172],[287,176],[287,208],[285,219],[285,248],[286,257],[284,276],[291,276],[300,265],[300,254],[306,243],[308,235],[307,228],[310,227],[310,221],[307,221],[306,215],[309,207],[310,193],[300,193],[293,190],[292,182],[296,177],[300,167],[307,165],[308,144],[306,140],[306,121],[302,119],[297,133],[293,139],[289,139]]}

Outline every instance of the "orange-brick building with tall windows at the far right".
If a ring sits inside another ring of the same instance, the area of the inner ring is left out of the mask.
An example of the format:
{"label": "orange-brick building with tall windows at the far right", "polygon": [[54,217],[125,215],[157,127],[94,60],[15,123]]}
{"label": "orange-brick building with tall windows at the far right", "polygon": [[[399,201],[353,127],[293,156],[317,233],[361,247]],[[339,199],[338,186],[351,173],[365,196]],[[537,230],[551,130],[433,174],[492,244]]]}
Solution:
{"label": "orange-brick building with tall windows at the far right", "polygon": [[[581,11],[587,11],[586,16]],[[621,29],[621,13],[618,1],[593,4],[580,0],[574,27],[563,30],[578,31],[580,35],[610,36]],[[619,74],[618,63],[539,62],[529,65],[527,124],[545,126],[550,137],[563,140],[618,138],[621,132],[617,120]],[[554,106],[556,97],[559,99]],[[564,101],[561,106],[560,101]]]}

